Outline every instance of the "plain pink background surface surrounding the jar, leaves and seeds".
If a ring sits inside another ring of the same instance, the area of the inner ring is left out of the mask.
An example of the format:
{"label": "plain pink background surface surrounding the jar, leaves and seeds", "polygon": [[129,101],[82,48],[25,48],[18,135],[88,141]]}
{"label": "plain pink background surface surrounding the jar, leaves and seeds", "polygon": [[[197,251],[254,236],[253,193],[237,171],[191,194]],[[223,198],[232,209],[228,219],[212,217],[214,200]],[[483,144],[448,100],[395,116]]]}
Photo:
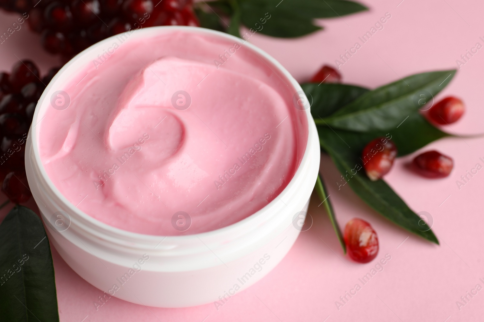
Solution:
{"label": "plain pink background surface surrounding the jar, leaves and seeds", "polygon": [[[456,68],[456,59],[484,38],[484,3],[460,0],[365,0],[369,12],[321,21],[325,30],[297,40],[255,35],[251,42],[279,60],[298,81],[308,79],[320,65],[349,49],[386,12],[392,17],[369,42],[341,66],[344,82],[376,87],[399,77]],[[16,16],[0,14],[0,31]],[[270,20],[269,20],[270,23]],[[361,42],[360,42],[361,43]],[[39,36],[26,24],[0,45],[0,70],[10,70],[20,58],[30,58],[45,73],[56,58],[40,47]],[[450,133],[484,132],[482,108],[484,49],[461,66],[439,98],[452,94],[467,105],[464,117]],[[455,132],[454,132],[455,131]],[[352,217],[370,222],[378,232],[380,251],[369,264],[345,257],[318,198],[309,213],[312,227],[302,232],[284,260],[248,290],[230,298],[219,310],[213,304],[194,308],[147,308],[111,298],[97,311],[93,304],[102,292],[82,280],[53,250],[61,321],[478,321],[484,313],[484,290],[457,308],[460,296],[476,284],[484,286],[483,248],[484,171],[459,190],[456,180],[484,158],[483,138],[450,138],[423,148],[438,149],[454,158],[450,177],[426,180],[405,164],[415,155],[397,160],[386,177],[408,205],[433,217],[440,246],[409,235],[375,213],[348,185],[337,190],[338,173],[328,157],[321,171],[342,226]],[[444,202],[445,200],[445,202]],[[32,205],[32,203],[30,203]],[[1,211],[1,217],[9,209]],[[409,236],[409,238],[408,238]],[[406,239],[408,238],[408,239]],[[392,259],[366,285],[362,278],[385,254]],[[339,310],[335,301],[358,283],[362,289]],[[203,292],[203,290],[194,290]],[[85,319],[85,320],[83,320]]]}

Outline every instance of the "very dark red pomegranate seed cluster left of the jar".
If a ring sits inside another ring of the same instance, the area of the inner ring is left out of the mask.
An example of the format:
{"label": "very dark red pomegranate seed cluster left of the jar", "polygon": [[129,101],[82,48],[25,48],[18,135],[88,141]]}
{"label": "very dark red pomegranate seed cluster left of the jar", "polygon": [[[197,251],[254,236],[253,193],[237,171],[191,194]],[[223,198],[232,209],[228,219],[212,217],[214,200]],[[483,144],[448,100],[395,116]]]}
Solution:
{"label": "very dark red pomegranate seed cluster left of the jar", "polygon": [[16,63],[11,73],[0,73],[0,182],[12,202],[30,198],[25,175],[25,140],[37,101],[59,69],[40,78],[30,60]]}

